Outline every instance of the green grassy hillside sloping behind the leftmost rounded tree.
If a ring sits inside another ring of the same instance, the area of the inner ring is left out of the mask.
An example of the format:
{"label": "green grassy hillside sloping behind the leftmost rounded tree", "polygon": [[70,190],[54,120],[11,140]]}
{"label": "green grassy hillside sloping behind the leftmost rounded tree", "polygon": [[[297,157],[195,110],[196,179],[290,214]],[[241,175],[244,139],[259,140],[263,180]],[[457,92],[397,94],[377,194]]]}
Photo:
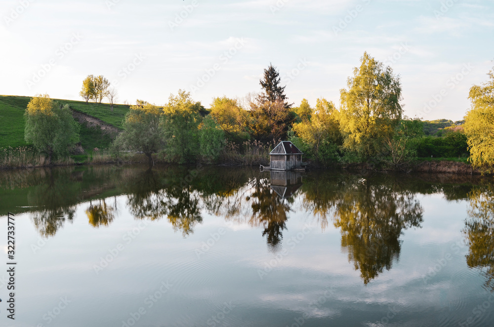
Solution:
{"label": "green grassy hillside sloping behind the leftmost rounded tree", "polygon": [[[31,100],[28,96],[0,95],[0,148],[28,145],[24,141],[24,112]],[[85,103],[84,101],[53,99],[70,105],[73,110],[95,117],[104,123],[122,128],[128,105],[114,105],[113,112],[106,103]],[[99,127],[81,124],[81,144],[86,152],[93,148],[106,148],[112,138],[103,133]]]}

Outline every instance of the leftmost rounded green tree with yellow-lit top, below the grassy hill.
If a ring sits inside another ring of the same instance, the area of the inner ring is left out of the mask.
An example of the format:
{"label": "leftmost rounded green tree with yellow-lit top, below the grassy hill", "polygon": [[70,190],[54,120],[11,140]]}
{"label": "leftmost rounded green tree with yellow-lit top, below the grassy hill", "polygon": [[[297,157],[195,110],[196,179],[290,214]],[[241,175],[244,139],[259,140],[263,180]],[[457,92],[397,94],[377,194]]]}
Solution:
{"label": "leftmost rounded green tree with yellow-lit top, below the grassy hill", "polygon": [[26,142],[47,154],[50,162],[55,156],[68,155],[74,144],[79,142],[80,126],[72,117],[69,105],[54,102],[48,94],[31,99],[24,119]]}

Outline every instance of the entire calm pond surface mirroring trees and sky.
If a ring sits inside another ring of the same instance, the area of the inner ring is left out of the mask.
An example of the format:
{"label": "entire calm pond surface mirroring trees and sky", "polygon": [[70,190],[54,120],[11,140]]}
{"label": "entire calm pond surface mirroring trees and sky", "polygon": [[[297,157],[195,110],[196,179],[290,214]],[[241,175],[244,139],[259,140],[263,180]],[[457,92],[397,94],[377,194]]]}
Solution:
{"label": "entire calm pond surface mirroring trees and sky", "polygon": [[472,176],[2,171],[0,326],[494,326],[493,200]]}

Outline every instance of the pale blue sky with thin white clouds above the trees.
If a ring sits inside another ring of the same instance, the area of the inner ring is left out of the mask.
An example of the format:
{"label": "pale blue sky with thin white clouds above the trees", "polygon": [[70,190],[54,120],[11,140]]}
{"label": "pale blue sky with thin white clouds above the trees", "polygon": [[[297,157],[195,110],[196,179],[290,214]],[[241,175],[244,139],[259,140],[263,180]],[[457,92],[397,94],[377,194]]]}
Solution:
{"label": "pale blue sky with thin white clouds above the trees", "polygon": [[492,0],[0,0],[0,94],[82,100],[103,75],[119,103],[179,89],[260,92],[273,64],[288,100],[339,106],[367,51],[400,76],[404,114],[462,120],[494,63]]}

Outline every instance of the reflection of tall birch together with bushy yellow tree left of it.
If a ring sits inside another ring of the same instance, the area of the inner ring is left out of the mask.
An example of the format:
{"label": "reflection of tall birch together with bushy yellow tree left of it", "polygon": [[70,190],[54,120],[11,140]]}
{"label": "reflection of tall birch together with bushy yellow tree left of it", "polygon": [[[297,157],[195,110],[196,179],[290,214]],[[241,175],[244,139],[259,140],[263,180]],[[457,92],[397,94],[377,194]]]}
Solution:
{"label": "reflection of tall birch together with bushy yellow tree left of it", "polygon": [[400,235],[407,228],[420,227],[423,208],[415,193],[396,180],[341,174],[325,177],[306,181],[302,206],[323,230],[328,218],[334,217],[341,246],[367,285],[399,259]]}

